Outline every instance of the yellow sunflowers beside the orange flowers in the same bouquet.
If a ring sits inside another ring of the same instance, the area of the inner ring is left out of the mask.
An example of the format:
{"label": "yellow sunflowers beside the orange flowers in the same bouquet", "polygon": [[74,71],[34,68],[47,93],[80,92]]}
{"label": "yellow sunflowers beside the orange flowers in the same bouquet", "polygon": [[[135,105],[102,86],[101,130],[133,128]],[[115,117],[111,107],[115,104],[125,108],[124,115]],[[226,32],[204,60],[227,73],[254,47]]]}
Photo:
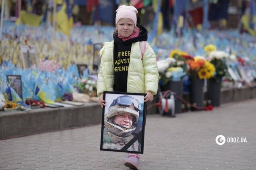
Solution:
{"label": "yellow sunflowers beside the orange flowers in the same bouquet", "polygon": [[210,79],[215,73],[215,67],[209,61],[205,61],[204,67],[198,71],[198,77],[200,79]]}

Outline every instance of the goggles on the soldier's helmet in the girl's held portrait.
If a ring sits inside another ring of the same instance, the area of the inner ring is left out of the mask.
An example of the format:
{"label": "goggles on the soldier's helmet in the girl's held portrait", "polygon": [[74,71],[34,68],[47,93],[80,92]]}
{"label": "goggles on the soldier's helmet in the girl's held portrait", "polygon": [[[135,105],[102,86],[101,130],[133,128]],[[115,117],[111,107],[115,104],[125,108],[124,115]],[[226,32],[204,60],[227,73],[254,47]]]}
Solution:
{"label": "goggles on the soldier's helmet in the girl's held portrait", "polygon": [[111,103],[111,105],[109,107],[116,105],[116,103],[118,103],[120,106],[127,106],[127,107],[129,107],[133,103],[136,111],[141,110],[141,105],[140,105],[139,101],[131,96],[128,96],[128,95],[123,95],[123,96],[120,96],[120,97],[114,99],[114,101]]}

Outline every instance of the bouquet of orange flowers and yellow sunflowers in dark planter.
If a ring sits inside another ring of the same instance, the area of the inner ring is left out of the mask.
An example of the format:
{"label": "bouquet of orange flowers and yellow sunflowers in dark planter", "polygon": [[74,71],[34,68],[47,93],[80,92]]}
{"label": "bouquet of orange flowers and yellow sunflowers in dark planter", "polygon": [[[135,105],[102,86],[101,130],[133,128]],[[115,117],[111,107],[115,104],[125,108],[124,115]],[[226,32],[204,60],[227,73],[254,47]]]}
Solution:
{"label": "bouquet of orange flowers and yellow sunflowers in dark planter", "polygon": [[196,56],[194,60],[187,63],[189,65],[187,73],[192,79],[210,79],[215,73],[214,65],[206,61],[204,57]]}

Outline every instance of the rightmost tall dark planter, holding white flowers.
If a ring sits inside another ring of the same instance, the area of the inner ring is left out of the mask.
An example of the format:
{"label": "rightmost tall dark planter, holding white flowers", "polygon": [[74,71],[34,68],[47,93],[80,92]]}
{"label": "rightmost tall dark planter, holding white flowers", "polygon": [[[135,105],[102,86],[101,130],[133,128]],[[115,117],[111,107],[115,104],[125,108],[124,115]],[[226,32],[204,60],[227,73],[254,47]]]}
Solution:
{"label": "rightmost tall dark planter, holding white flowers", "polygon": [[221,80],[209,79],[207,84],[207,98],[213,106],[221,105]]}

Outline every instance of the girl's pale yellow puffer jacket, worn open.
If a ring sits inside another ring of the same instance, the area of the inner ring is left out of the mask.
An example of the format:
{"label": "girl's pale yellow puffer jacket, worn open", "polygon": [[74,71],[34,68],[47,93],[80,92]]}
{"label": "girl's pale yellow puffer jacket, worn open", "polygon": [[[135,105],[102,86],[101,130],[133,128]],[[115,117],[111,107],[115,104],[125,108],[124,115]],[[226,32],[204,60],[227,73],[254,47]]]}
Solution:
{"label": "girl's pale yellow puffer jacket, worn open", "polygon": [[[114,91],[114,40],[105,42],[99,52],[101,66],[97,81],[97,95],[103,91]],[[130,63],[128,67],[127,92],[145,93],[151,91],[157,94],[158,70],[157,60],[153,49],[146,43],[146,50],[141,60],[139,42],[132,43]]]}

